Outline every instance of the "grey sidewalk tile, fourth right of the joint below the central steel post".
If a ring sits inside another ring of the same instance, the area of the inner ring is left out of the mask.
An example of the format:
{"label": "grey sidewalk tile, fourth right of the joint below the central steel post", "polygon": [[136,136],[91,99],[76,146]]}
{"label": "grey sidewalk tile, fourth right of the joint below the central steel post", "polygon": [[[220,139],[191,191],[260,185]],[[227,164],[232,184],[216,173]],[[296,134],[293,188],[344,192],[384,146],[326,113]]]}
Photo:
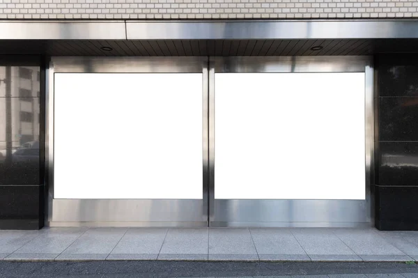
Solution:
{"label": "grey sidewalk tile, fourth right of the joint below the central steel post", "polygon": [[339,229],[334,233],[357,255],[404,255],[373,230]]}

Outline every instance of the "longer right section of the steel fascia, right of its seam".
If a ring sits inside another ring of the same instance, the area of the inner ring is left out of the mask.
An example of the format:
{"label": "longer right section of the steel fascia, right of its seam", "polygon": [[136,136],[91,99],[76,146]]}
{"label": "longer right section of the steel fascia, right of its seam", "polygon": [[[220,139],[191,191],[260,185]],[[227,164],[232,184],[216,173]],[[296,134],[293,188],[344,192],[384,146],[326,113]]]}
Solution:
{"label": "longer right section of the steel fascia, right of its seam", "polygon": [[418,38],[418,21],[130,21],[126,31],[128,40]]}

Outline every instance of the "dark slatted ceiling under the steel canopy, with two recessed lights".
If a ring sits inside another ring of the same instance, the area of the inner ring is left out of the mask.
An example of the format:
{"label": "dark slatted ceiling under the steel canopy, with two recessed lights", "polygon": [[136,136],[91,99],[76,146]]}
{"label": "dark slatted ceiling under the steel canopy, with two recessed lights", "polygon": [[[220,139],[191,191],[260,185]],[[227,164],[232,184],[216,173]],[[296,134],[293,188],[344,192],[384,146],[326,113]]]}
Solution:
{"label": "dark slatted ceiling under the steel canopy, with two recessed lights", "polygon": [[[314,51],[314,46],[323,48]],[[46,56],[355,56],[382,52],[418,52],[418,39],[0,40],[0,54]]]}

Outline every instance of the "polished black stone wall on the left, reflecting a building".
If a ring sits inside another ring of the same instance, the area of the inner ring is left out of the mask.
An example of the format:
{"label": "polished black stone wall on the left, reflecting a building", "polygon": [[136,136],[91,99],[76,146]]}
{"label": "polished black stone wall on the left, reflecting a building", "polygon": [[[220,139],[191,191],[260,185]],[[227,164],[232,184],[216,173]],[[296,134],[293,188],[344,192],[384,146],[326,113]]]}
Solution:
{"label": "polished black stone wall on the left, reflecting a building", "polygon": [[41,58],[0,56],[0,229],[44,223]]}

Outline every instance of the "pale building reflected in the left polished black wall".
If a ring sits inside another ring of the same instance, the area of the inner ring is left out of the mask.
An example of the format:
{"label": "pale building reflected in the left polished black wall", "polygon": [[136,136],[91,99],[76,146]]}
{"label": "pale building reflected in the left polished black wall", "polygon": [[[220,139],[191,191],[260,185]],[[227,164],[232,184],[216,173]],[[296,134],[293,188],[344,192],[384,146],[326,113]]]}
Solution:
{"label": "pale building reflected in the left polished black wall", "polygon": [[[12,146],[22,146],[29,141],[39,140],[40,123],[40,72],[37,67],[10,67],[10,105],[7,105],[6,67],[0,67],[0,149],[6,147],[6,126],[11,125]],[[11,123],[6,122],[7,111]]]}

